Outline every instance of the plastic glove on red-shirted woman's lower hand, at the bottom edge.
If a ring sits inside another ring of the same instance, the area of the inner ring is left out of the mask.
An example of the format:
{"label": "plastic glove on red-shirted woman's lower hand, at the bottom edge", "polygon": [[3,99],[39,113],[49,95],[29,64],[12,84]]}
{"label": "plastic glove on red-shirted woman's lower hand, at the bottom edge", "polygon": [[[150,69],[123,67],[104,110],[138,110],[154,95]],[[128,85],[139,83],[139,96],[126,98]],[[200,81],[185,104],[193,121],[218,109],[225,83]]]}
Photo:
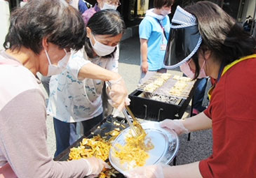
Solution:
{"label": "plastic glove on red-shirted woman's lower hand, at the bottom edge", "polygon": [[126,172],[128,178],[163,178],[163,168],[168,165],[147,165]]}

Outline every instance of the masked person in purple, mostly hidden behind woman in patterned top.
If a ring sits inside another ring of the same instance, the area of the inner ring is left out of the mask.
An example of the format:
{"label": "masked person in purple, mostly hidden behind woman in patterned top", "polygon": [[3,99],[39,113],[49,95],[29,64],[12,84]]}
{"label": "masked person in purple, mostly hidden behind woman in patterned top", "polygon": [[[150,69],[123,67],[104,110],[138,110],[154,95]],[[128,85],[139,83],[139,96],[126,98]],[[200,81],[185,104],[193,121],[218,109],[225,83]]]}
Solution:
{"label": "masked person in purple, mostly hidden behind woman in patterned top", "polygon": [[87,25],[88,20],[93,16],[93,14],[105,9],[116,10],[120,5],[121,3],[119,0],[97,0],[97,3],[93,8],[89,8],[82,14],[83,22]]}

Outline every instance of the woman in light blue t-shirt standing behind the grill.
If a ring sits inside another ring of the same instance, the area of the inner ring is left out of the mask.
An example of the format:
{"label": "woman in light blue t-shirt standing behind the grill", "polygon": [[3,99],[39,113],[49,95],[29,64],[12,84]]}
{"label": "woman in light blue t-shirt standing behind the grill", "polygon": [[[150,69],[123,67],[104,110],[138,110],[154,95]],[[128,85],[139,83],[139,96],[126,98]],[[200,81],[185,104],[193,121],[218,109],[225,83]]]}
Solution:
{"label": "woman in light blue t-shirt standing behind the grill", "polygon": [[154,0],[154,8],[147,10],[140,22],[140,83],[145,82],[154,73],[166,73],[163,58],[170,31],[170,14],[173,0]]}

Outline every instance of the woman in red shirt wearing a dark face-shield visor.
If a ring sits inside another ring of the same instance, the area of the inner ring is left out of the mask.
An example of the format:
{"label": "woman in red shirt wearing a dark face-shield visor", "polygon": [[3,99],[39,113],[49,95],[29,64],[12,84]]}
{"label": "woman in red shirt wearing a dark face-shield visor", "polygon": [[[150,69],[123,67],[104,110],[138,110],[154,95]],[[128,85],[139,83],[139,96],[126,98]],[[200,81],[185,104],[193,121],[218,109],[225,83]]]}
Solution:
{"label": "woman in red shirt wearing a dark face-shield visor", "polygon": [[138,168],[128,177],[255,177],[255,39],[209,1],[178,6],[171,30],[166,67],[183,64],[191,77],[207,75],[216,84],[204,112],[184,121],[166,119],[161,126],[178,134],[212,128],[213,154],[187,165]]}

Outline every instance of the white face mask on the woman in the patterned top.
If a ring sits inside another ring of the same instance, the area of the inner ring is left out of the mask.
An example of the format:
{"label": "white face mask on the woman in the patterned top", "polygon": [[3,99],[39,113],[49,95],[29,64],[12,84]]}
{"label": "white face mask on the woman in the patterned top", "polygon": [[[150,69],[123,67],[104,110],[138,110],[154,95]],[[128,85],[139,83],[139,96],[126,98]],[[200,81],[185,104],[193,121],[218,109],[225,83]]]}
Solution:
{"label": "white face mask on the woman in the patterned top", "polygon": [[[90,39],[90,38],[89,38]],[[96,52],[96,54],[100,57],[105,57],[108,54],[111,54],[112,52],[114,52],[114,49],[116,48],[116,46],[108,46],[108,45],[104,45],[100,42],[98,42],[95,37],[93,36],[93,39],[95,40],[95,43],[93,45],[93,43],[90,40],[90,44],[93,46],[93,50]]]}

